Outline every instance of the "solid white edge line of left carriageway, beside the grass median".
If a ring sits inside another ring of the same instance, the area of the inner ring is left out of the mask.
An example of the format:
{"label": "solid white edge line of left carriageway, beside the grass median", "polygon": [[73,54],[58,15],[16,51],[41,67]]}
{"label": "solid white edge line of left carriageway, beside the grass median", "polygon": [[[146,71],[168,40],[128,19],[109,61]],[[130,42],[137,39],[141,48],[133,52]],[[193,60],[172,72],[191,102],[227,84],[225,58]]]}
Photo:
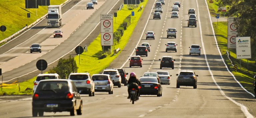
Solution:
{"label": "solid white edge line of left carriageway, beside the grass median", "polygon": [[[120,1],[120,0],[118,0],[118,1],[116,2],[116,4],[117,4],[119,1]],[[114,7],[116,4],[114,4],[113,7]],[[113,7],[108,11],[108,13],[113,9]],[[107,14],[108,14],[108,13],[107,13]],[[99,24],[100,24],[100,22],[99,22],[99,23],[94,27],[94,29],[81,41],[81,43],[82,43],[89,35],[91,35],[91,33],[96,29],[96,27],[97,27]],[[80,45],[80,43],[79,43],[77,46],[79,46],[79,45]],[[76,46],[76,47],[77,47],[77,46]],[[72,50],[70,50],[69,52],[67,52],[66,54],[64,54],[63,56],[61,56],[60,58],[64,57],[65,55],[67,55],[68,53],[70,53],[71,51],[73,51],[76,47],[74,47]],[[52,63],[58,61],[60,58],[58,58],[57,60],[53,61]],[[49,64],[47,64],[47,65],[50,65],[50,64],[52,64],[52,63],[49,63]],[[38,71],[38,69],[37,69],[37,70],[34,70],[34,71],[32,71],[32,72],[35,72],[35,71]],[[27,74],[30,74],[30,73],[32,73],[32,72],[29,72],[29,73],[27,73]],[[24,75],[27,75],[27,74],[24,74]],[[19,77],[22,77],[22,76],[24,76],[24,75],[21,75],[21,76],[19,76]],[[15,78],[10,79],[10,80],[5,81],[5,82],[9,82],[9,81],[14,80],[14,79],[19,78],[19,77],[15,77]]]}

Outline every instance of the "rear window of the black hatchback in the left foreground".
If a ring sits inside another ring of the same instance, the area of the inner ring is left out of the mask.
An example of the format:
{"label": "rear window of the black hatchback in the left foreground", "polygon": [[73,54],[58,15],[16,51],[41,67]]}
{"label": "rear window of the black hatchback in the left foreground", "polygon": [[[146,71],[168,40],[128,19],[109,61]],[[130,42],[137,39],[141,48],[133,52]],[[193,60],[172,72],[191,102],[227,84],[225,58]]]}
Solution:
{"label": "rear window of the black hatchback in the left foreground", "polygon": [[67,92],[69,91],[67,81],[44,81],[40,82],[36,91]]}

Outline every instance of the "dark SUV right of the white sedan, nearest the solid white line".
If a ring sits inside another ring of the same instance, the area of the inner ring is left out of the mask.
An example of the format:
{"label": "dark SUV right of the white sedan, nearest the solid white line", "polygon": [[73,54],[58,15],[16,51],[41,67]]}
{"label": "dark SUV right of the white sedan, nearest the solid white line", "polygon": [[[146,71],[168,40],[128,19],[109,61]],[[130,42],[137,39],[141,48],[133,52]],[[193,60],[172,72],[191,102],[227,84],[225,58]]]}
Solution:
{"label": "dark SUV right of the white sedan, nearest the solid white line", "polygon": [[181,70],[177,75],[176,88],[180,86],[193,86],[194,89],[197,88],[197,77],[194,71]]}

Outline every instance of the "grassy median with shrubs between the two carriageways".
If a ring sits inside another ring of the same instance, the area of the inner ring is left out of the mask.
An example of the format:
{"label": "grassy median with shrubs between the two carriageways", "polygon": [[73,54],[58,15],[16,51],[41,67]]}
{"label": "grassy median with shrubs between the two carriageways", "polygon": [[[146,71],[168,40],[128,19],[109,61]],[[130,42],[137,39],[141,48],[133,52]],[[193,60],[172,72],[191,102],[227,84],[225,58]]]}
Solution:
{"label": "grassy median with shrubs between the two carriageways", "polygon": [[[143,0],[141,0],[143,1]],[[141,5],[145,6],[147,4],[148,0],[144,0],[142,3],[140,3],[139,7]],[[129,6],[128,6],[129,7]],[[124,5],[124,8],[120,11],[117,11],[117,18],[116,21],[113,20],[113,28],[114,28],[114,32],[119,32],[120,30],[123,31],[123,35],[120,37],[120,39],[116,39],[116,43],[114,46],[112,46],[112,50],[113,49],[117,49],[120,48],[121,50],[126,46],[127,42],[129,41],[130,36],[132,35],[133,30],[135,29],[137,22],[140,19],[140,16],[143,13],[142,9],[141,11],[139,10],[139,7],[137,8],[137,10],[127,10],[127,6]],[[129,7],[130,8],[130,7]],[[135,8],[136,9],[136,8]],[[131,11],[135,12],[135,16],[131,17]],[[130,16],[130,17],[129,17]],[[133,22],[130,22],[128,19],[126,18],[131,18],[130,20],[132,20],[133,18]],[[128,23],[129,25],[126,27],[126,30],[122,30],[124,28],[121,28],[124,24]],[[130,23],[129,23],[130,22]],[[120,33],[120,32],[119,32]],[[69,70],[67,72],[63,72],[62,74],[60,74],[60,72],[58,72],[59,68],[61,68],[61,66],[57,66],[54,67],[52,70],[48,71],[47,73],[55,73],[57,72],[60,76],[63,75],[63,77],[67,78],[67,73],[72,72],[89,72],[91,75],[92,74],[97,74],[99,72],[101,72],[103,69],[107,68],[109,66],[109,64],[120,54],[120,52],[118,54],[116,54],[115,56],[113,55],[113,51],[110,52],[110,54],[107,54],[105,58],[99,59],[98,57],[100,57],[103,53],[102,53],[102,47],[101,47],[101,43],[100,43],[100,34],[98,35],[98,37],[92,42],[90,43],[90,45],[87,48],[87,52],[83,52],[80,55],[80,64],[79,64],[79,57],[75,56],[74,58],[70,58],[70,66],[72,65],[72,63],[76,63],[78,68],[73,68],[72,70]],[[74,59],[74,61],[72,61]],[[59,60],[59,63],[64,63],[66,62],[65,60]],[[77,69],[77,70],[76,70]],[[25,82],[21,82],[19,83],[20,86],[20,92],[19,92],[19,87],[17,86],[17,84],[15,85],[11,85],[8,86],[10,88],[3,88],[3,91],[0,91],[0,95],[32,95],[33,93],[33,82],[35,81],[36,77],[29,79],[28,81]]]}

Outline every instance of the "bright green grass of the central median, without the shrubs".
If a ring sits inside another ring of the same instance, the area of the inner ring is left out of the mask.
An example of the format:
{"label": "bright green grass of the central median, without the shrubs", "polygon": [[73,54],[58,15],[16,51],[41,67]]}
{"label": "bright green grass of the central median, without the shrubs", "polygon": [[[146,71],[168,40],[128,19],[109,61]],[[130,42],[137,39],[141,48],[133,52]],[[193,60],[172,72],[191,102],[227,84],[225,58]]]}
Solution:
{"label": "bright green grass of the central median, without the shrubs", "polygon": [[[148,2],[148,0],[144,0],[144,2],[142,2],[140,4],[140,6],[141,5],[146,6],[147,2]],[[131,11],[133,11],[133,10],[127,10],[126,8],[127,8],[126,5],[124,5],[124,8],[122,10],[117,11],[118,17],[116,18],[116,23],[115,23],[115,19],[113,19],[114,31],[116,31],[117,28],[120,26],[120,24],[123,23],[123,20],[126,18],[126,16],[130,15]],[[139,8],[137,8],[137,9],[139,9]],[[125,47],[125,45],[129,41],[130,36],[132,35],[134,28],[137,25],[137,22],[139,21],[141,14],[143,13],[143,10],[144,9],[142,9],[142,11],[134,10],[135,16],[134,16],[133,23],[131,21],[131,25],[129,27],[127,27],[127,29],[124,31],[124,36],[121,38],[118,45],[115,45],[113,47],[113,49],[121,48],[121,50],[122,50]],[[92,43],[90,43],[87,50],[88,50],[87,52],[84,52],[80,55],[80,64],[79,64],[78,56],[75,57],[75,60],[79,67],[78,72],[89,72],[91,75],[99,73],[103,69],[107,68],[109,66],[109,64],[120,54],[120,53],[118,53],[116,56],[110,55],[104,59],[98,60],[96,54],[102,50],[101,45],[100,45],[100,34]],[[36,77],[29,79],[28,81],[21,82],[20,83],[20,92],[19,92],[19,88],[17,85],[11,85],[8,87],[13,87],[13,88],[3,88],[3,91],[0,91],[0,95],[3,95],[3,94],[6,94],[6,95],[24,95],[24,94],[31,95],[33,91],[32,90],[25,91],[25,89],[26,88],[33,89],[33,85],[34,85],[33,82],[35,81],[35,79],[36,79]]]}

